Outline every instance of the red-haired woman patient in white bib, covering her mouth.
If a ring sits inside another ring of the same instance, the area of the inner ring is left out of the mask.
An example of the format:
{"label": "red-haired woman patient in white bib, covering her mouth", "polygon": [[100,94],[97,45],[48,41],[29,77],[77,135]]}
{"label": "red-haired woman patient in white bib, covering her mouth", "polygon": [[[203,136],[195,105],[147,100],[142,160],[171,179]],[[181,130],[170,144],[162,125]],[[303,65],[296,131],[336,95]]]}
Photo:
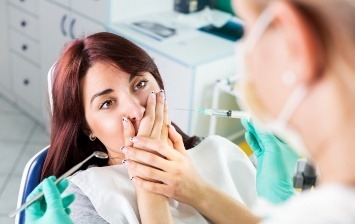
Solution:
{"label": "red-haired woman patient in white bib, covering her mouth", "polygon": [[162,150],[191,148],[187,154],[197,171],[190,174],[209,179],[205,186],[242,207],[255,202],[255,169],[246,155],[223,138],[199,143],[169,125],[163,89],[153,60],[122,37],[97,33],[64,49],[54,70],[51,147],[42,178],[61,175],[93,151],[109,155],[70,178],[74,223],[209,222],[189,205],[134,186],[131,177],[139,172],[122,164],[133,136],[159,142]]}

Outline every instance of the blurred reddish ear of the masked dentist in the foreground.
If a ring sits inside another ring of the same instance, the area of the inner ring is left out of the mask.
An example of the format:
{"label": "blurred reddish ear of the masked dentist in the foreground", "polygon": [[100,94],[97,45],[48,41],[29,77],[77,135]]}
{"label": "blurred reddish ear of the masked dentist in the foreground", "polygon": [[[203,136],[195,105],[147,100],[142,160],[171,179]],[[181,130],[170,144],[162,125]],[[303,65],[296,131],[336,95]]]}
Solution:
{"label": "blurred reddish ear of the masked dentist in the foreground", "polygon": [[289,1],[273,1],[270,7],[275,15],[274,27],[285,39],[289,69],[297,74],[297,82],[313,82],[321,75],[324,63],[322,41],[313,21]]}

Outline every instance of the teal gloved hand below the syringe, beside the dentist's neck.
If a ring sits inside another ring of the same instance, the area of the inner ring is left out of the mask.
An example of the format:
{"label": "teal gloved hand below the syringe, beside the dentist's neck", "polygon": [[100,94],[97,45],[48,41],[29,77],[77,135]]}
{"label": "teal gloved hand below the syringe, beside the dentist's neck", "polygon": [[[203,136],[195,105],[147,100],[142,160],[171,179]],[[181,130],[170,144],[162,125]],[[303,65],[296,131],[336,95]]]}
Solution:
{"label": "teal gloved hand below the syringe, beside the dentist's neck", "polygon": [[297,154],[271,132],[257,128],[242,119],[247,132],[245,139],[257,159],[256,189],[259,197],[272,203],[281,203],[295,194],[293,174]]}

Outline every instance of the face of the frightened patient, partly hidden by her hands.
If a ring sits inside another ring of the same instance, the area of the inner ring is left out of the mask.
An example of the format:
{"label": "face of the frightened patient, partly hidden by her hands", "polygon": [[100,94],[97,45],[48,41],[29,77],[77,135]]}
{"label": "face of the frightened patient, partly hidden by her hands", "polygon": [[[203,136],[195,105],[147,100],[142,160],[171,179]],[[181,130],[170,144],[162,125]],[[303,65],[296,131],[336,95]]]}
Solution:
{"label": "face of the frightened patient, partly hidden by her hands", "polygon": [[80,82],[86,122],[90,133],[110,151],[124,146],[122,118],[127,117],[137,132],[147,97],[159,91],[153,75],[136,76],[108,64],[95,63]]}

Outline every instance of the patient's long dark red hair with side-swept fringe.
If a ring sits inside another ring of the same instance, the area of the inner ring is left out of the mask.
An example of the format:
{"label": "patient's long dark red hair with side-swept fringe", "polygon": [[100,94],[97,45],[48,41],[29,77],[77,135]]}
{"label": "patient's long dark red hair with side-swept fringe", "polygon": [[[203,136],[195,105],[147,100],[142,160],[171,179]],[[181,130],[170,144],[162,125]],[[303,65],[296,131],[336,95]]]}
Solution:
{"label": "patient's long dark red hair with side-swept fringe", "polygon": [[[153,59],[143,49],[123,37],[102,32],[69,42],[53,74],[51,145],[42,169],[42,180],[50,175],[60,176],[94,151],[107,153],[107,149],[98,139],[89,140],[80,92],[80,80],[97,62],[110,63],[132,76],[139,72],[150,72],[159,87],[164,89],[163,80]],[[200,142],[200,138],[189,137],[174,126],[182,135],[187,149]],[[92,159],[83,168],[91,164],[106,166],[107,162],[108,160]]]}

